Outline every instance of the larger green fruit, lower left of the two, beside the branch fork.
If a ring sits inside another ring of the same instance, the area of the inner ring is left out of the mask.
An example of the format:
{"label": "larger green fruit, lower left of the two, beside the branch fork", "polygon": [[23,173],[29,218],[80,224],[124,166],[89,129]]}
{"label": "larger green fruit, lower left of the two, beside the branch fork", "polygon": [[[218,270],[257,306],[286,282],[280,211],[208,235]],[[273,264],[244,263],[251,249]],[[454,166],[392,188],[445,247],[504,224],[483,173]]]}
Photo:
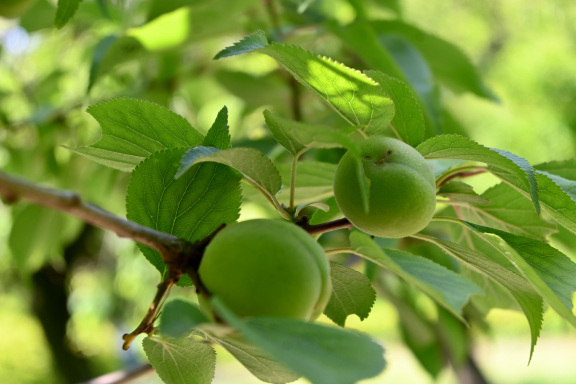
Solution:
{"label": "larger green fruit, lower left of the two, beside the branch fork", "polygon": [[331,295],[324,250],[281,220],[231,224],[208,244],[198,270],[206,289],[241,317],[312,320]]}

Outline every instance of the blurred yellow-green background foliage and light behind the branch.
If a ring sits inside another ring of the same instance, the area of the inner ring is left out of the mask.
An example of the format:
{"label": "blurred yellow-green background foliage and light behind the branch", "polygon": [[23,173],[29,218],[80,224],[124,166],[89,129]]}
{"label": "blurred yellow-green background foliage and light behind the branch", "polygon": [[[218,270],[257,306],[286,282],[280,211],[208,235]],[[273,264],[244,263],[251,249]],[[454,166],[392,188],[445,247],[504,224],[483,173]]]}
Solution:
{"label": "blurred yellow-green background foliage and light behind the branch", "polygon": [[[211,27],[200,23],[202,28],[194,31],[200,37],[188,36],[190,41],[177,50],[138,56],[138,47],[130,48],[128,41],[122,52],[129,55],[135,49],[137,60],[110,64],[97,82],[93,81],[98,72],[95,65],[100,64],[101,71],[108,65],[99,57],[110,41],[106,39],[126,31],[134,36],[154,34],[130,29],[153,19],[154,7],[147,2],[86,0],[71,24],[57,30],[51,27],[54,3],[38,0],[21,18],[0,18],[0,167],[8,172],[76,190],[86,200],[123,215],[127,175],[60,147],[89,144],[98,137],[99,127],[85,112],[86,106],[121,95],[144,98],[168,106],[205,131],[226,105],[237,140],[262,137],[265,106],[288,113],[289,90],[273,72],[276,65],[271,60],[246,55],[211,61],[218,50],[244,33],[271,28],[265,1],[253,1],[246,8],[242,4],[249,1],[220,0],[205,5],[199,13]],[[172,3],[185,2],[167,2]],[[342,23],[355,17],[350,5],[354,2],[279,3],[315,3],[317,8],[310,9],[329,9],[331,17]],[[366,3],[389,3],[374,6],[381,11],[378,17],[402,17],[455,43],[478,66],[498,103],[442,90],[443,103],[471,138],[533,164],[574,157],[575,2]],[[231,7],[230,14],[223,11],[226,6]],[[233,13],[235,6],[243,13]],[[166,36],[177,39],[176,32]],[[313,22],[290,33],[295,36],[294,43],[301,42],[307,49],[340,52],[341,47],[315,30]],[[187,39],[186,34],[182,36]],[[259,81],[252,89],[238,89],[253,77]],[[251,92],[251,99],[243,97],[246,92]],[[310,108],[316,108],[314,102]],[[561,233],[554,245],[574,259],[576,243],[571,240]],[[157,272],[130,241],[42,208],[0,205],[0,383],[75,382],[74,377],[79,382],[144,362],[138,342],[128,352],[121,350],[121,336],[138,324],[157,282]],[[181,288],[175,292],[179,295],[194,296]],[[384,302],[379,302],[364,322],[350,321],[351,327],[381,340],[387,350],[388,369],[366,383],[434,382],[403,346],[396,321],[395,310]],[[510,384],[576,382],[576,334],[555,314],[547,312],[529,366],[525,319],[515,312],[494,310],[487,322],[491,325],[488,335],[476,329],[472,332],[477,335],[477,363],[489,380]],[[58,367],[78,372],[65,378]],[[216,378],[216,383],[257,382],[223,351]],[[438,382],[456,380],[447,371]],[[159,381],[149,375],[134,382]]]}

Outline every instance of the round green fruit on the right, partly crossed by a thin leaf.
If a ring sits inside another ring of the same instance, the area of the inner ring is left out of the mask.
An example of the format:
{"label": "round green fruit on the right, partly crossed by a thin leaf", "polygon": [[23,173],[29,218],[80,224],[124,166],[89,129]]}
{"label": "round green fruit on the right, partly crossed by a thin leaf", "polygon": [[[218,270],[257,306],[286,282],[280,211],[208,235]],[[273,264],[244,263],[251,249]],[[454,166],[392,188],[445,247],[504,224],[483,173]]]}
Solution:
{"label": "round green fruit on the right, partly crossed by a thin leaf", "polygon": [[[436,208],[436,184],[429,164],[400,140],[371,137],[361,157],[346,153],[334,177],[334,197],[344,216],[362,231],[401,238],[428,225]],[[370,180],[368,209],[362,200],[362,172]]]}

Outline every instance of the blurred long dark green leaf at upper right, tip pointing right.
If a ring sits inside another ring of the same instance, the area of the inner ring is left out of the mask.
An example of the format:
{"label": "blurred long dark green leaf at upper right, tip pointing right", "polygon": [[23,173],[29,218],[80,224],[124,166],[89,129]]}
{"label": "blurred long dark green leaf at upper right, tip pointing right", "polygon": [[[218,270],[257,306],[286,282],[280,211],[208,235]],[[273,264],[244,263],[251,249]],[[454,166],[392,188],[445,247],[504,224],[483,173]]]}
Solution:
{"label": "blurred long dark green leaf at upper right, tip pointing right", "polygon": [[478,69],[456,45],[400,20],[379,20],[371,25],[380,38],[395,35],[410,41],[425,57],[434,77],[455,92],[472,92],[496,100]]}

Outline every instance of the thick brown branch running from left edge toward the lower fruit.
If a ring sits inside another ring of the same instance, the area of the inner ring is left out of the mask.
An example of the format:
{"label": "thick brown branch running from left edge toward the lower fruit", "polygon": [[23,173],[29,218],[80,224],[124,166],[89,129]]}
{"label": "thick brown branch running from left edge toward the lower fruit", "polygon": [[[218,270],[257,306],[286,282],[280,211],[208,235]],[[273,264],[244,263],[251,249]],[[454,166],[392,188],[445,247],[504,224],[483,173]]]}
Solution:
{"label": "thick brown branch running from left edge toward the lower fruit", "polygon": [[4,172],[0,172],[0,195],[9,203],[20,199],[30,200],[67,212],[87,223],[112,231],[120,237],[131,238],[157,250],[168,264],[175,262],[177,255],[191,248],[191,244],[184,239],[145,227],[113,215],[96,205],[85,203],[74,192],[38,186]]}

